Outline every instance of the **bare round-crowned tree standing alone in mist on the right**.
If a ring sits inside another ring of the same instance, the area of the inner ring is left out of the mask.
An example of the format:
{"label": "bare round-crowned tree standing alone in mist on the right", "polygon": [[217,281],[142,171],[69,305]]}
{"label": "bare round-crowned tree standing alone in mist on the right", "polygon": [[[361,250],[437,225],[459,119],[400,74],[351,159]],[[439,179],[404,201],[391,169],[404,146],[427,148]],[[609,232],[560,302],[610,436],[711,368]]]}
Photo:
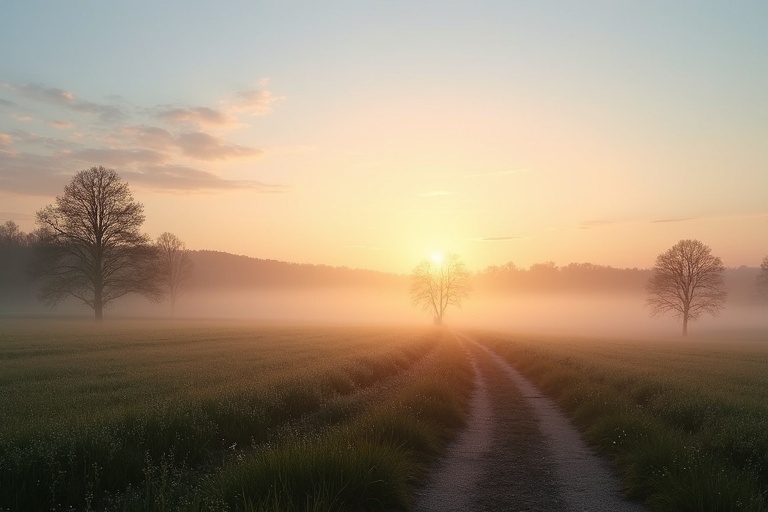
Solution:
{"label": "bare round-crowned tree standing alone in mist on the right", "polygon": [[683,321],[683,336],[688,321],[702,313],[717,315],[725,307],[723,262],[698,240],[680,240],[656,258],[646,290],[651,314],[672,312]]}

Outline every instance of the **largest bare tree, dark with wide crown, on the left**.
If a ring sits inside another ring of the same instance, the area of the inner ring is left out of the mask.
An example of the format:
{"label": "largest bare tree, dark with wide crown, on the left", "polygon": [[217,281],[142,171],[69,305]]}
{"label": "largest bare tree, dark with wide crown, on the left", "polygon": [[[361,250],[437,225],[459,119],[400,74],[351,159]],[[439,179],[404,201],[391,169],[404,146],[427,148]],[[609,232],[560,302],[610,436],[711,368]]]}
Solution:
{"label": "largest bare tree, dark with wide crown, on the left", "polygon": [[117,172],[78,172],[55,204],[37,212],[41,298],[55,305],[75,297],[93,308],[97,321],[105,305],[126,294],[159,300],[157,250],[139,231],[143,222],[143,205]]}

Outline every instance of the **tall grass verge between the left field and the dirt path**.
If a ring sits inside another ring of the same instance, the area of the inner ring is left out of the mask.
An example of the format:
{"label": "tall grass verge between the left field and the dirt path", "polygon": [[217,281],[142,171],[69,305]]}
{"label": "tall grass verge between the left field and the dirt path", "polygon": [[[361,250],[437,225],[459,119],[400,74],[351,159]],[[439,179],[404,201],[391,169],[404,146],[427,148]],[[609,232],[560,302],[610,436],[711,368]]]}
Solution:
{"label": "tall grass verge between the left field and the dirt path", "polygon": [[473,370],[453,337],[397,389],[350,421],[288,438],[224,468],[238,511],[405,510],[425,468],[464,423]]}

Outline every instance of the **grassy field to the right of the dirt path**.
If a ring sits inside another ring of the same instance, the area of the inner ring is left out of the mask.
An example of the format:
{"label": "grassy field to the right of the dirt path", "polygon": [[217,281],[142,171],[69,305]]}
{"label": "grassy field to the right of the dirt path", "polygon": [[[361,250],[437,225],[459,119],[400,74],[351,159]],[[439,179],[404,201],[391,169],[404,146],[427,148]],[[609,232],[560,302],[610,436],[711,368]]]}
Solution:
{"label": "grassy field to the right of the dirt path", "polygon": [[768,333],[476,338],[556,398],[651,509],[768,509]]}

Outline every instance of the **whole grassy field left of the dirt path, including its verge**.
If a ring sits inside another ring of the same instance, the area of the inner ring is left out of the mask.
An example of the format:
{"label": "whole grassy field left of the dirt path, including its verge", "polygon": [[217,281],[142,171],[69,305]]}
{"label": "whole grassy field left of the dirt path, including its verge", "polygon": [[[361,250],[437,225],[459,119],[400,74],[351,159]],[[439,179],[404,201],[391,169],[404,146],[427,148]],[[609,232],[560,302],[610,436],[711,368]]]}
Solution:
{"label": "whole grassy field left of the dirt path, including its verge", "polygon": [[440,331],[0,320],[0,509],[406,508],[471,388]]}

